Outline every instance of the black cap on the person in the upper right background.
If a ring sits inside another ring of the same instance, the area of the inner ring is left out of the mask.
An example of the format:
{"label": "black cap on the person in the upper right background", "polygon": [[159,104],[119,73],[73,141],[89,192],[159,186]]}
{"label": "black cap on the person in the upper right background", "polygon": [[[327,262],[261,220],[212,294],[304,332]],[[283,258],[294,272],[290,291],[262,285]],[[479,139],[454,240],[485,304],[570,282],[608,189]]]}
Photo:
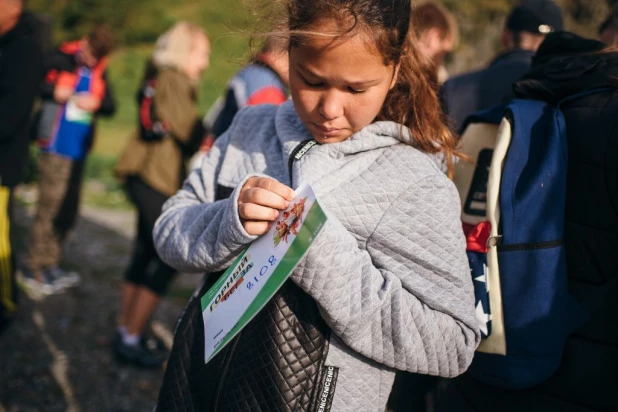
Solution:
{"label": "black cap on the person in the upper right background", "polygon": [[549,34],[563,29],[562,11],[552,0],[524,0],[511,11],[506,28]]}

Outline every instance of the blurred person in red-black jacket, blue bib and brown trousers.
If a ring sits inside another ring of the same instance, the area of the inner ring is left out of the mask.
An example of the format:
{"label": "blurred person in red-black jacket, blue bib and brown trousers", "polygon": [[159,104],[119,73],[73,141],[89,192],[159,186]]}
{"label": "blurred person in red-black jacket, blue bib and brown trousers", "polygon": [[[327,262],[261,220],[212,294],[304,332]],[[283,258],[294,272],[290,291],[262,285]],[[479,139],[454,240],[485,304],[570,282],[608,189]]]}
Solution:
{"label": "blurred person in red-black jacket, blue bib and brown trousers", "polygon": [[77,273],[58,265],[62,243],[77,218],[96,117],[115,111],[106,74],[113,46],[110,29],[97,26],[82,40],[62,44],[44,62],[37,126],[39,202],[22,271],[23,283],[43,294],[79,282]]}

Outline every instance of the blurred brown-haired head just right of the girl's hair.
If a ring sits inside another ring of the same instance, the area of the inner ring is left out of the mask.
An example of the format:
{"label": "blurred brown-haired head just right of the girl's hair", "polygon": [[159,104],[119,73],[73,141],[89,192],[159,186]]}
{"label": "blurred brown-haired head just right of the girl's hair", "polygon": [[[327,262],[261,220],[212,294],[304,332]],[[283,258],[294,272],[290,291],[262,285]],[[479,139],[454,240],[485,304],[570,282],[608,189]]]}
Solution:
{"label": "blurred brown-haired head just right of the girl's hair", "polygon": [[459,44],[457,20],[443,5],[427,2],[412,9],[411,21],[419,50],[435,64],[438,82],[444,83],[449,77],[444,58]]}

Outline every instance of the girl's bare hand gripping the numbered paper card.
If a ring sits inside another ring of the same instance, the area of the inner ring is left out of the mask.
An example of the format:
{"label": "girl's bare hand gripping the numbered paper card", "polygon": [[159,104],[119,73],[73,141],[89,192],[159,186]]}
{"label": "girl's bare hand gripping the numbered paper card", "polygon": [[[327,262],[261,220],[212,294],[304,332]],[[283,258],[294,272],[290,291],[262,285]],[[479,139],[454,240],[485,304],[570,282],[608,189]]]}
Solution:
{"label": "girl's bare hand gripping the numbered paper card", "polygon": [[243,228],[251,236],[263,235],[292,199],[294,191],[274,179],[248,179],[238,197],[238,214]]}

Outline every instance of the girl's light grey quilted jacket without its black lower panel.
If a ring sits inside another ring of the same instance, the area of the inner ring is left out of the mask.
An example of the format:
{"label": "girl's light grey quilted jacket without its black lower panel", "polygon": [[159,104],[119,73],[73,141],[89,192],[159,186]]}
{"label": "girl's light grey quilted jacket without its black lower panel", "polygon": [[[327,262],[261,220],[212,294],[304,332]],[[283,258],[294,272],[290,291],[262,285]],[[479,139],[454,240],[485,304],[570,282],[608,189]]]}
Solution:
{"label": "girl's light grey quilted jacket without its black lower panel", "polygon": [[[339,368],[337,412],[383,412],[395,369],[461,374],[480,340],[457,191],[430,157],[401,142],[401,129],[376,122],[317,145],[290,176],[290,154],[311,139],[292,103],[245,109],[154,229],[170,265],[221,270],[255,239],[237,211],[248,176],[309,183],[329,219],[292,280],[333,332],[325,365]],[[236,189],[215,202],[217,185]]]}

